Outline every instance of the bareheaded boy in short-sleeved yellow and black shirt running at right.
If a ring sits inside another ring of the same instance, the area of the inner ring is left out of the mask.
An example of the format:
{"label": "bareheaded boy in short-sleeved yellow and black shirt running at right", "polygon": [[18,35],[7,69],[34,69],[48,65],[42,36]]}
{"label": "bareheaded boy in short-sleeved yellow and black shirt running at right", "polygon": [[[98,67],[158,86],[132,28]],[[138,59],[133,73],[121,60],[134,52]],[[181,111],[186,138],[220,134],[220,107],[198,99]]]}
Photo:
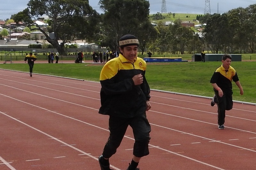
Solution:
{"label": "bareheaded boy in short-sleeved yellow and black shirt running at right", "polygon": [[218,105],[218,128],[225,129],[225,112],[233,108],[232,100],[232,80],[240,89],[240,94],[244,94],[244,90],[239,82],[236,70],[230,66],[232,57],[230,55],[222,56],[222,65],[213,73],[211,83],[213,86],[214,96],[211,106],[216,103]]}

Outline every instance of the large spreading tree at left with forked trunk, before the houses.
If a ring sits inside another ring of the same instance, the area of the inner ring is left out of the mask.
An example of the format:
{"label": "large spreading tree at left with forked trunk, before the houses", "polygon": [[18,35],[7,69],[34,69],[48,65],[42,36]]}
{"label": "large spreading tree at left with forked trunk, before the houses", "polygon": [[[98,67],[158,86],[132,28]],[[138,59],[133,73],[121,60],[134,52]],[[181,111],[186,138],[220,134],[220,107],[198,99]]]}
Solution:
{"label": "large spreading tree at left with forked trunk, before the houses", "polygon": [[[54,32],[53,39],[34,22],[35,17],[43,15],[49,17],[48,24]],[[92,9],[88,0],[30,0],[28,8],[13,16],[16,23],[23,21],[31,31],[41,31],[46,41],[60,54],[66,53],[64,45],[67,42],[78,39],[92,41],[94,35],[99,32],[99,18],[99,14]],[[62,40],[62,43],[59,44],[58,40]]]}

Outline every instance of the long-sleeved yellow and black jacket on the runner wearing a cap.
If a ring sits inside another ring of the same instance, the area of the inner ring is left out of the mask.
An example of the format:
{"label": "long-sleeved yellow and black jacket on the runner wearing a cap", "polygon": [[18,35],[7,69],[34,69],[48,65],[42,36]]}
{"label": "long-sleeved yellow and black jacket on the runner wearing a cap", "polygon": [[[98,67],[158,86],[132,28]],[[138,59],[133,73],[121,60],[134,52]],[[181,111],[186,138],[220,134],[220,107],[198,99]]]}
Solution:
{"label": "long-sleeved yellow and black jacket on the runner wearing a cap", "polygon": [[[136,57],[133,63],[122,54],[108,61],[100,73],[100,114],[131,118],[145,114],[150,88],[145,78],[146,62]],[[143,83],[134,85],[133,76],[143,75]]]}

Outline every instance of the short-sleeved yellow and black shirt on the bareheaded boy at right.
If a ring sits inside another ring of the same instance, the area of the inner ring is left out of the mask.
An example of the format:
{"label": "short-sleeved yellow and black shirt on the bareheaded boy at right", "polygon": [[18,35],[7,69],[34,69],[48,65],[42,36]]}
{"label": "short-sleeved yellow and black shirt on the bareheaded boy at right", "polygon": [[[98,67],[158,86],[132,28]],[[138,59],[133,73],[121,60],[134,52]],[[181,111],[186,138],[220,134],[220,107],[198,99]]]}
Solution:
{"label": "short-sleeved yellow and black shirt on the bareheaded boy at right", "polygon": [[228,70],[225,70],[223,64],[213,73],[211,83],[216,83],[223,92],[232,92],[232,80],[234,82],[239,81],[236,70],[229,66]]}

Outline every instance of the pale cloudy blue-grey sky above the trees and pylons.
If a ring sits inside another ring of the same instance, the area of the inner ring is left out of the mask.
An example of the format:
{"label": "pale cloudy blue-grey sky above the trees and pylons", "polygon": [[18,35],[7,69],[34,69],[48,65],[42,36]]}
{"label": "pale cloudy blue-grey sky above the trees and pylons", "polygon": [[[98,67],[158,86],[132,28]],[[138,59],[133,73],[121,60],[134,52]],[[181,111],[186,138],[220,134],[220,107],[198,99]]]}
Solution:
{"label": "pale cloudy blue-grey sky above the trees and pylons", "polygon": [[[194,13],[204,14],[206,0],[165,0],[166,11],[172,13]],[[207,0],[208,1],[208,0]],[[11,18],[12,14],[16,14],[27,8],[29,0],[0,0],[0,19]],[[99,0],[89,0],[89,4],[97,12],[102,13],[98,5]],[[149,0],[150,14],[161,13],[162,0]],[[210,10],[213,13],[224,13],[231,9],[243,7],[246,8],[250,4],[256,4],[256,0],[210,0]]]}

